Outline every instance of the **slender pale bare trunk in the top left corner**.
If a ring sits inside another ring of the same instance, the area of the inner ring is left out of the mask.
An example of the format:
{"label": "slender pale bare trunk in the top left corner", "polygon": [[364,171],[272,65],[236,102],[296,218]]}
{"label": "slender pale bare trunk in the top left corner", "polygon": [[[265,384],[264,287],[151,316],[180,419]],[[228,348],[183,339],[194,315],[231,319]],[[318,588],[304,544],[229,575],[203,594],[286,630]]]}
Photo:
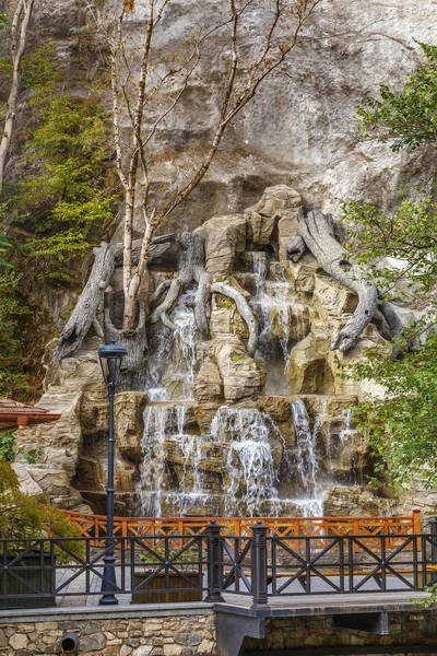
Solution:
{"label": "slender pale bare trunk in the top left corner", "polygon": [[27,43],[28,23],[35,0],[19,0],[11,25],[12,84],[7,101],[7,115],[0,141],[0,195],[3,189],[4,166],[11,145],[21,84],[21,60]]}

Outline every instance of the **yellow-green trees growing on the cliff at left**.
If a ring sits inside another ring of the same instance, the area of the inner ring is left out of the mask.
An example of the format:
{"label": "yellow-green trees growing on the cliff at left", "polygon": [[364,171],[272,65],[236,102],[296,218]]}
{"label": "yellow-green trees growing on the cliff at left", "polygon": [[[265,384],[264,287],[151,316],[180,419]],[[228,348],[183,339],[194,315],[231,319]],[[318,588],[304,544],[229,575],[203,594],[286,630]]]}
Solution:
{"label": "yellow-green trees growing on the cliff at left", "polygon": [[[0,197],[0,396],[28,399],[38,387],[34,376],[43,342],[50,337],[50,326],[42,330],[33,318],[42,314],[34,283],[82,284],[83,258],[110,222],[116,195],[98,96],[63,92],[64,71],[50,40],[26,54],[22,66],[26,108],[15,127],[20,176],[4,181]],[[0,68],[8,80],[10,59],[0,60]]]}

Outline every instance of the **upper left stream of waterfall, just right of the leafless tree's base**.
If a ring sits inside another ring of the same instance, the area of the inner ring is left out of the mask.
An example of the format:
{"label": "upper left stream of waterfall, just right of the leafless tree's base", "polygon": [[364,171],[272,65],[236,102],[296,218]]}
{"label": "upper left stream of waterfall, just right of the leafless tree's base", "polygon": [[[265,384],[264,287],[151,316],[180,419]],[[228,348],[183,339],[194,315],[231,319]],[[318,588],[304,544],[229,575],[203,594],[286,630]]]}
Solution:
{"label": "upper left stream of waterfall, just right of the leafless tree's base", "polygon": [[175,328],[160,327],[150,345],[146,389],[150,401],[193,399],[196,371],[196,290],[188,289],[172,314]]}

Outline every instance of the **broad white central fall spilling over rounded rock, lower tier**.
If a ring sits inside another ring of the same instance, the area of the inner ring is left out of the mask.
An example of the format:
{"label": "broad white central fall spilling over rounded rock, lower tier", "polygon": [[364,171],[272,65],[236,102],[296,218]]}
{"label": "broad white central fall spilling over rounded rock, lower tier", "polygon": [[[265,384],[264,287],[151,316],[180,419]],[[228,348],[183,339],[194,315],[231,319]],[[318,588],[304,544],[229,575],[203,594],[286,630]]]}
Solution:
{"label": "broad white central fall spilling over rounded rock, lower tier", "polygon": [[256,409],[223,407],[215,414],[211,441],[229,443],[227,515],[262,514],[263,504],[277,497],[272,430],[272,419]]}

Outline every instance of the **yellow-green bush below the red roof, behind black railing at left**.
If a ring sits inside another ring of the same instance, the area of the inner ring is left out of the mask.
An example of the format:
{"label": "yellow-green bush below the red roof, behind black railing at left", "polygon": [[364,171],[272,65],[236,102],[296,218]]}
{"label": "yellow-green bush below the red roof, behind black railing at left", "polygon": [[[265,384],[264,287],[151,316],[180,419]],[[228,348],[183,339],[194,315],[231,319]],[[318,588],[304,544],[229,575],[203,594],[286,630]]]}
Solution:
{"label": "yellow-green bush below the red roof, behind black railing at left", "polygon": [[[0,535],[16,539],[16,549],[24,538],[79,538],[76,526],[46,499],[29,496],[20,491],[20,483],[11,464],[0,458]],[[83,557],[81,541],[66,540],[63,544],[75,555]],[[68,554],[58,550],[58,563],[70,562]]]}

